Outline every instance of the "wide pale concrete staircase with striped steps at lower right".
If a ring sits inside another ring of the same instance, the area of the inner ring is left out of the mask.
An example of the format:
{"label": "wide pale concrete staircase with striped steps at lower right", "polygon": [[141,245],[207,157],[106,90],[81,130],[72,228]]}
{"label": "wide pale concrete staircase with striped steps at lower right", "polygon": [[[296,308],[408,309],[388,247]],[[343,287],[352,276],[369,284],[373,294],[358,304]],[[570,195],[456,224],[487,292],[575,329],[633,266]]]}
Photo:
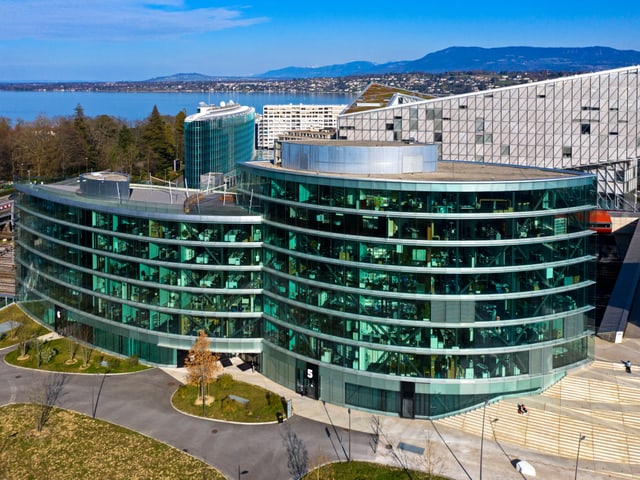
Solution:
{"label": "wide pale concrete staircase with striped steps at lower right", "polygon": [[[518,414],[525,403],[527,415]],[[436,421],[481,435],[483,408]],[[584,440],[579,442],[580,436]],[[485,439],[598,463],[614,478],[640,477],[640,377],[622,363],[594,361],[541,395],[487,405]]]}

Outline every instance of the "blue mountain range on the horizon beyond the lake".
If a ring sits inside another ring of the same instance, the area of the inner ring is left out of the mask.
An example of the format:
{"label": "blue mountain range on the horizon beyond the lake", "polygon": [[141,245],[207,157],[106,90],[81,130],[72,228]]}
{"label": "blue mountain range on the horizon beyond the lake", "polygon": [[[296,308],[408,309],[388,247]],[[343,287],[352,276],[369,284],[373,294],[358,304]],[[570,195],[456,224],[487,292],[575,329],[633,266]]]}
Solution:
{"label": "blue mountain range on the horizon beyond the lake", "polygon": [[[640,52],[609,47],[450,47],[417,60],[388,63],[349,62],[322,67],[287,67],[254,75],[252,79],[347,77],[385,73],[443,73],[459,71],[593,72],[640,64]],[[198,73],[158,77],[149,81],[206,81],[231,77],[209,77]]]}

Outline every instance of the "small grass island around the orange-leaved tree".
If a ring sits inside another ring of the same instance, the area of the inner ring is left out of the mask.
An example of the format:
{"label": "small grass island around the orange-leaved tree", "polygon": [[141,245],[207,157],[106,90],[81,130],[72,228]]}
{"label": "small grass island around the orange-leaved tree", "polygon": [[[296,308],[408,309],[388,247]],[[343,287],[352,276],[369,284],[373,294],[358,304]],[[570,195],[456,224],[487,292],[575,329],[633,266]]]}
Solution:
{"label": "small grass island around the orange-leaved tree", "polygon": [[[205,405],[206,418],[232,422],[258,423],[277,421],[283,416],[285,406],[282,399],[273,392],[248,383],[234,380],[231,375],[223,374],[205,387],[205,395],[212,400]],[[236,401],[235,396],[248,400]],[[173,405],[180,411],[202,416],[200,388],[195,385],[183,385],[173,396]]]}

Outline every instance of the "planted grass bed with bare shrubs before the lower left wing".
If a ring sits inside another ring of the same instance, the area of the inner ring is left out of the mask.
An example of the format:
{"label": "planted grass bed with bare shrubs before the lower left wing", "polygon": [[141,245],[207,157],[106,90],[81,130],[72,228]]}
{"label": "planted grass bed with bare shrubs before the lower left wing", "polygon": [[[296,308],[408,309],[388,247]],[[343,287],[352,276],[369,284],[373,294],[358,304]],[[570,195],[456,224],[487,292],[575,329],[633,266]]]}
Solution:
{"label": "planted grass bed with bare shrubs before the lower left wing", "polygon": [[[27,349],[29,358],[21,360],[20,349],[17,349],[9,352],[5,356],[5,360],[11,365],[20,367],[64,373],[131,373],[150,368],[146,365],[139,364],[136,357],[124,359],[113,357],[93,348],[90,348],[89,352],[84,353],[82,349],[85,347],[74,347],[73,345],[71,345],[71,347],[77,348],[77,352],[74,355],[74,361],[70,361],[71,354],[69,353],[69,347],[70,342],[66,338],[41,342],[38,347],[36,347],[33,342],[30,342]],[[38,352],[40,352],[39,365]],[[53,356],[49,361],[45,361],[51,354],[53,354]],[[85,355],[87,355],[86,358],[88,358],[86,367],[83,358]]]}

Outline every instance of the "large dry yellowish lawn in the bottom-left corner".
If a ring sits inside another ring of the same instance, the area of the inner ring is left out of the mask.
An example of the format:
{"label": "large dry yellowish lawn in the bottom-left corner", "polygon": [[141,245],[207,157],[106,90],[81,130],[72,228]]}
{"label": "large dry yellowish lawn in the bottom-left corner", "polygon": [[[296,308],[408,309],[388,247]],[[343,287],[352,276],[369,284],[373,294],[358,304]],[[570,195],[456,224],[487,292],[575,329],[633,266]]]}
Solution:
{"label": "large dry yellowish lawn in the bottom-left corner", "polygon": [[0,478],[224,480],[164,443],[79,413],[54,409],[36,433],[31,404],[0,407]]}

